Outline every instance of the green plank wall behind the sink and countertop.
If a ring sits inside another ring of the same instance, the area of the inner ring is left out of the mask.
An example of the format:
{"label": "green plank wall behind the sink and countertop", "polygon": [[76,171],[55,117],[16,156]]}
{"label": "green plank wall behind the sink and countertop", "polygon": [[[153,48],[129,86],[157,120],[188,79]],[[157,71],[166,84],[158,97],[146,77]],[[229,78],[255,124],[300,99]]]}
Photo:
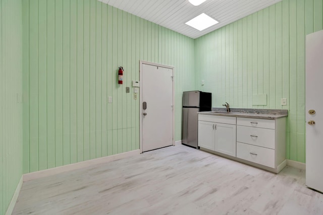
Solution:
{"label": "green plank wall behind the sink and countertop", "polygon": [[[305,162],[305,36],[323,29],[322,14],[322,0],[283,0],[195,40],[196,86],[213,94],[212,106],[289,110],[286,156],[299,162]],[[252,105],[255,94],[267,94],[267,105]]]}

